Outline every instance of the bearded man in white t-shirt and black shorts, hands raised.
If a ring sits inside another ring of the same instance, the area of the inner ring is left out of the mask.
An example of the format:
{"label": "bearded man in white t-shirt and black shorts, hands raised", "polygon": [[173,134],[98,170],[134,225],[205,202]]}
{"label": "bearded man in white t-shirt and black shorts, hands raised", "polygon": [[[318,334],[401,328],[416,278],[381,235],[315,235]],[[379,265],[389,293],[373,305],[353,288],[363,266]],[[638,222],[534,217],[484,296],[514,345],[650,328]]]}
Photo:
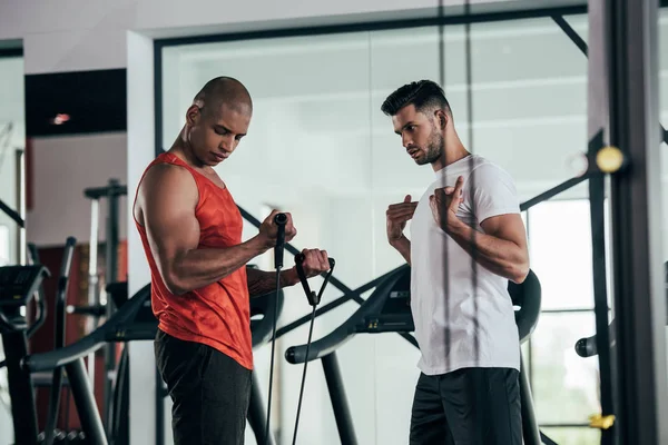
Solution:
{"label": "bearded man in white t-shirt and black shorts, hands raised", "polygon": [[524,280],[529,253],[513,180],[465,149],[433,81],[399,88],[382,110],[407,155],[434,170],[420,201],[409,195],[387,209],[387,239],[411,265],[421,350],[410,444],[521,445],[520,340],[508,281]]}

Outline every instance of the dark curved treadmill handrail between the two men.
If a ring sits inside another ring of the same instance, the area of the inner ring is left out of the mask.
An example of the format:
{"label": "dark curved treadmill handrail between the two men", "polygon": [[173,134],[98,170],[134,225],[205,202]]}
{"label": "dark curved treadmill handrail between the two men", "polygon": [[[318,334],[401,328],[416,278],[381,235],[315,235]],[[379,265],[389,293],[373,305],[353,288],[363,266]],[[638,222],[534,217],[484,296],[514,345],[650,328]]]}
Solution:
{"label": "dark curved treadmill handrail between the two men", "polygon": [[285,359],[293,365],[306,360],[312,362],[331,354],[350,340],[356,334],[356,325],[360,324],[365,316],[381,312],[389,291],[395,286],[401,276],[406,273],[406,268],[407,265],[399,268],[393,275],[381,283],[366,301],[364,301],[364,304],[362,304],[362,306],[360,306],[360,308],[341,326],[318,340],[313,342],[308,348],[308,357],[306,357],[306,345],[299,345],[288,347],[285,350]]}

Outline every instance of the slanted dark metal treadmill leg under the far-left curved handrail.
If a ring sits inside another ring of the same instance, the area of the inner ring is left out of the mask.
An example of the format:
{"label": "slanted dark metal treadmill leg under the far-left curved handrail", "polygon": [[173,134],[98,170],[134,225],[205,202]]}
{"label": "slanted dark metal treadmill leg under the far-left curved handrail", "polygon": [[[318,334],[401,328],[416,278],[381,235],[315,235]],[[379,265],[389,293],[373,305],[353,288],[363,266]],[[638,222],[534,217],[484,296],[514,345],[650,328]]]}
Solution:
{"label": "slanted dark metal treadmill leg under the far-left curved handrail", "polygon": [[81,428],[86,433],[86,443],[91,445],[107,445],[105,427],[97,409],[92,388],[88,383],[84,358],[76,359],[66,365],[65,369],[67,370],[72,398],[77,406],[77,414],[81,421]]}

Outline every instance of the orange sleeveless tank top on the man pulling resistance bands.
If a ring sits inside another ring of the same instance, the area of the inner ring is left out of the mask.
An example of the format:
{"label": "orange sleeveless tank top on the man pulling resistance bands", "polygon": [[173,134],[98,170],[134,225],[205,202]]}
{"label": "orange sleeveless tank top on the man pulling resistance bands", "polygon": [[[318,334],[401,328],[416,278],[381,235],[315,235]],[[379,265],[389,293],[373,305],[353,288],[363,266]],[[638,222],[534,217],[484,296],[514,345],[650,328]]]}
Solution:
{"label": "orange sleeveless tank top on the man pulling resistance bands", "polygon": [[[186,168],[199,191],[195,216],[199,221],[200,249],[230,247],[242,243],[244,221],[227,190],[196,171],[175,155],[160,154],[146,168],[167,162]],[[141,179],[144,179],[144,175]],[[137,197],[135,196],[135,200]],[[174,295],[165,286],[150,251],[146,229],[135,219],[151,275],[151,307],[158,327],[173,337],[208,345],[229,356],[245,368],[253,369],[250,309],[246,268],[240,267],[225,278]]]}

